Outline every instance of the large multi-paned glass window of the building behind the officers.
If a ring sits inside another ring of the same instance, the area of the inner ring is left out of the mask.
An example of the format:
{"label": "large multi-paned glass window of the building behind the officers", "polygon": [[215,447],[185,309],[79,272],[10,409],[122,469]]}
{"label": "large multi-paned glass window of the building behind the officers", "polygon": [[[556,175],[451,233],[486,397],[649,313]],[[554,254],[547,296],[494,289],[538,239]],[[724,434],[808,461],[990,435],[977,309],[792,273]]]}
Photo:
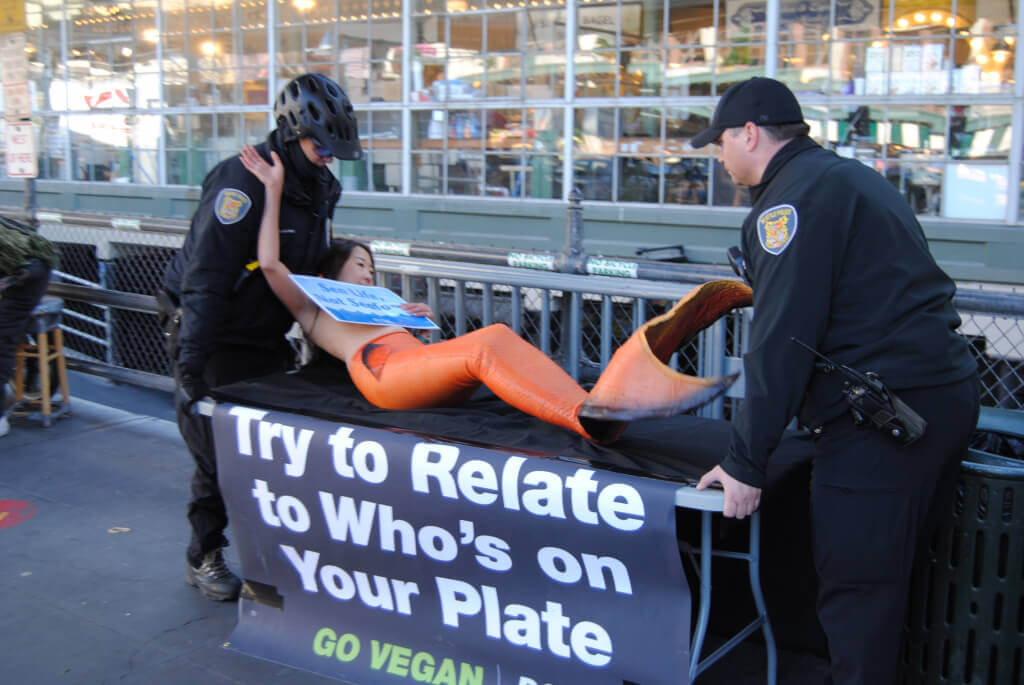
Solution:
{"label": "large multi-paned glass window of the building behind the officers", "polygon": [[1013,126],[1024,106],[1015,10],[964,0],[781,0],[774,17],[764,0],[30,2],[27,54],[42,178],[198,184],[266,135],[270,83],[316,71],[359,119],[365,159],[334,165],[347,191],[558,200],[575,186],[589,202],[741,207],[749,198],[714,151],[689,141],[726,88],[769,74],[798,94],[816,140],[876,169],[920,214],[1006,220],[1022,176],[1011,151],[1024,145]]}

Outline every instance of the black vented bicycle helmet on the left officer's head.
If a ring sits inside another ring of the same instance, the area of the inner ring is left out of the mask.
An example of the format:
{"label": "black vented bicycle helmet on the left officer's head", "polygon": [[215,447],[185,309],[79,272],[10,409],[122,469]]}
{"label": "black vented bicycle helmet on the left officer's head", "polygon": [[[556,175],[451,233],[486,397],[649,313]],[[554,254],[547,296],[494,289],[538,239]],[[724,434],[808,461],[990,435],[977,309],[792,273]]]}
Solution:
{"label": "black vented bicycle helmet on the left officer's head", "polygon": [[323,74],[303,74],[289,81],[273,102],[273,119],[286,142],[308,136],[339,160],[362,159],[352,103]]}

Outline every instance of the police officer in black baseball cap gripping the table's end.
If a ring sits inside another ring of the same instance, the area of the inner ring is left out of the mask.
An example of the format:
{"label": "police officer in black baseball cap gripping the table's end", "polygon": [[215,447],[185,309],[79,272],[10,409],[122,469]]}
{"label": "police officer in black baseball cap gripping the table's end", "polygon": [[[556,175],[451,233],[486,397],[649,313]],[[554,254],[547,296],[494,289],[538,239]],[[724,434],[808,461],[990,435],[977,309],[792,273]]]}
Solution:
{"label": "police officer in black baseball cap gripping the table's end", "polygon": [[745,397],[728,454],[698,487],[719,483],[724,514],[748,516],[790,421],[812,431],[817,608],[833,683],[889,684],[914,554],[952,496],[977,422],[977,362],[956,333],[954,285],[910,206],[808,133],[793,92],[754,78],[723,94],[691,141],[719,145],[753,202],[742,225],[754,289]]}

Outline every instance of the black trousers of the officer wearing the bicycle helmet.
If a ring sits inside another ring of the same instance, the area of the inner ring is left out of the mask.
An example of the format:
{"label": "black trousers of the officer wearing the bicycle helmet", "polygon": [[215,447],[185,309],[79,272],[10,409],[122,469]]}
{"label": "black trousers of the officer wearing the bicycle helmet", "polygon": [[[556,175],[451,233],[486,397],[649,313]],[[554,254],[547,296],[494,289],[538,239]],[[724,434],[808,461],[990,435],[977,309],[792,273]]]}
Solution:
{"label": "black trousers of the officer wearing the bicycle helmet", "polygon": [[[171,359],[172,371],[177,358],[177,327],[180,317],[173,310],[168,310],[169,300],[159,298],[161,306],[161,326],[164,329],[167,342],[168,357]],[[281,345],[272,348],[253,347],[248,345],[217,345],[207,360],[203,371],[203,380],[215,388],[218,385],[237,383],[249,378],[258,378],[286,371],[290,367],[292,351],[282,337]],[[196,462],[196,470],[191,478],[191,499],[188,501],[188,523],[191,526],[191,539],[188,542],[186,557],[188,563],[198,566],[208,552],[225,547],[227,538],[227,510],[217,482],[217,458],[213,448],[213,431],[209,417],[194,414],[184,405],[181,393],[174,395],[174,409],[178,419],[178,430],[185,441],[185,446]]]}

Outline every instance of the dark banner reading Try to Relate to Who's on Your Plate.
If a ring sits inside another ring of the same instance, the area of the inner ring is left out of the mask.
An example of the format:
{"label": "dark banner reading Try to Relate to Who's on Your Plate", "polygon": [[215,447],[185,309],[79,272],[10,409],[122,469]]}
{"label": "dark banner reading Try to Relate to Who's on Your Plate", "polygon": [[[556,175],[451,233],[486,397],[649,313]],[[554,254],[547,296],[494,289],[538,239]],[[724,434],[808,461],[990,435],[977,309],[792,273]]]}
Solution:
{"label": "dark banner reading Try to Relate to Who's on Your Plate", "polygon": [[243,652],[353,683],[687,683],[678,485],[219,404]]}

